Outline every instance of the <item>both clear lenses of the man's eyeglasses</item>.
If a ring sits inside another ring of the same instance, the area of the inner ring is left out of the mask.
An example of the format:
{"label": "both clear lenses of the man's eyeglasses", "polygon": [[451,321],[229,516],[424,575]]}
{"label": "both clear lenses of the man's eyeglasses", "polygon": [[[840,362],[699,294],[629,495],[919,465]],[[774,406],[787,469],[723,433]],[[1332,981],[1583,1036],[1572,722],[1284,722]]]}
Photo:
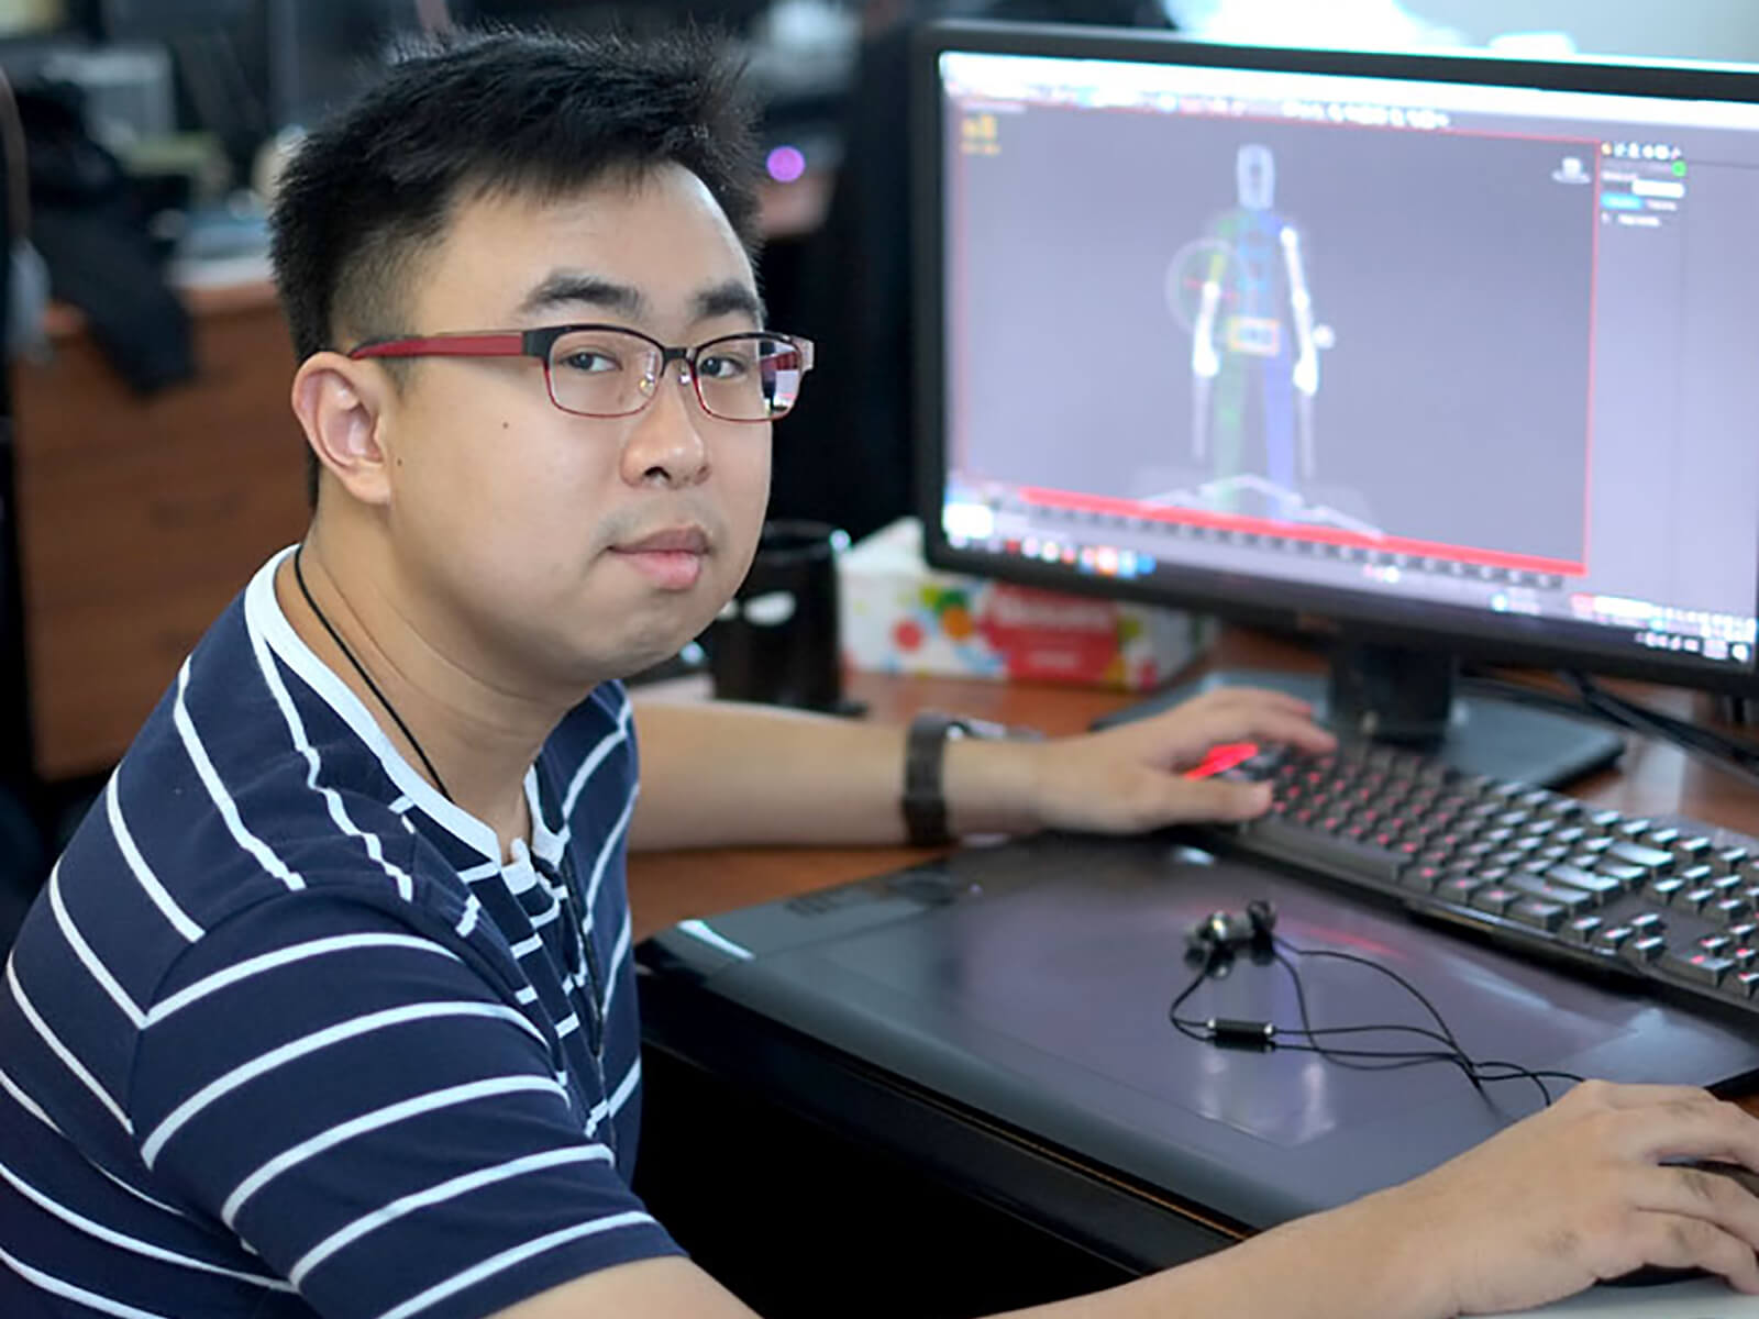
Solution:
{"label": "both clear lenses of the man's eyeglasses", "polygon": [[[572,331],[549,357],[551,397],[563,412],[626,417],[660,387],[660,350],[614,329]],[[770,334],[730,334],[695,352],[704,412],[732,422],[781,417],[800,394],[800,350]]]}

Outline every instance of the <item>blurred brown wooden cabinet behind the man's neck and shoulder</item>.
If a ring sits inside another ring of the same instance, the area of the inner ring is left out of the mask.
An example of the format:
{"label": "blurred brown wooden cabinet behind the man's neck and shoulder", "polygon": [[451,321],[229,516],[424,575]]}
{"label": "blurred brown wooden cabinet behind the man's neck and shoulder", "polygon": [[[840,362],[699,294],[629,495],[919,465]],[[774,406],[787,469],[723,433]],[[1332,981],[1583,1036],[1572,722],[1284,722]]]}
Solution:
{"label": "blurred brown wooden cabinet behind the man's neck and shoulder", "polygon": [[193,292],[195,382],[134,396],[77,317],[16,369],[28,712],[42,779],[104,772],[195,640],[306,524],[267,285]]}

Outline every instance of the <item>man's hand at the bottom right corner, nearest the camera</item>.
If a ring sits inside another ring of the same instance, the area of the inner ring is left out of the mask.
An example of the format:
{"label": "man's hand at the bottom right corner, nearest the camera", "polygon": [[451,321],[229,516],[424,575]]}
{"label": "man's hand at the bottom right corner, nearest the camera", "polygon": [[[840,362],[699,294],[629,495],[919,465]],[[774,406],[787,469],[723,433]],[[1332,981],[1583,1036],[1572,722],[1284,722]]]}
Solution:
{"label": "man's hand at the bottom right corner, nearest the camera", "polygon": [[1759,1119],[1690,1087],[1587,1082],[1353,1210],[1444,1287],[1437,1314],[1544,1305],[1645,1264],[1759,1293],[1759,1196],[1662,1159],[1759,1170]]}

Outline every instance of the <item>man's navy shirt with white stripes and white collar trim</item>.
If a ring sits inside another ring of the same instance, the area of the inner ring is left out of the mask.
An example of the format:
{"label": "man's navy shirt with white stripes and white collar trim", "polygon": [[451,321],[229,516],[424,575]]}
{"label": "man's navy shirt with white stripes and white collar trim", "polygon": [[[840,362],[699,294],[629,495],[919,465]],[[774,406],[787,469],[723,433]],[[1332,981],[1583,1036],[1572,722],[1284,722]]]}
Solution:
{"label": "man's navy shirt with white stripes and white collar trim", "polygon": [[7,1319],[482,1315],[677,1252],[628,1185],[628,696],[545,744],[503,864],[288,626],[281,557],[7,962]]}

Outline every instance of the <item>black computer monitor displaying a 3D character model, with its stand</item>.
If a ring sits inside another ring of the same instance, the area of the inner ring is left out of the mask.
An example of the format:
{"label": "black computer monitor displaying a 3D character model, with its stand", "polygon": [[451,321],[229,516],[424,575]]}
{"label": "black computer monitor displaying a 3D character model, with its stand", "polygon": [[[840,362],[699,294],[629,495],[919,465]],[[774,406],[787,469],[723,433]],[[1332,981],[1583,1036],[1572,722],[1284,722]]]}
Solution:
{"label": "black computer monitor displaying a 3D character model, with its stand", "polygon": [[1617,740],[1455,700],[1460,658],[1750,691],[1755,98],[923,28],[927,559],[1330,637],[1335,721],[1506,777]]}

